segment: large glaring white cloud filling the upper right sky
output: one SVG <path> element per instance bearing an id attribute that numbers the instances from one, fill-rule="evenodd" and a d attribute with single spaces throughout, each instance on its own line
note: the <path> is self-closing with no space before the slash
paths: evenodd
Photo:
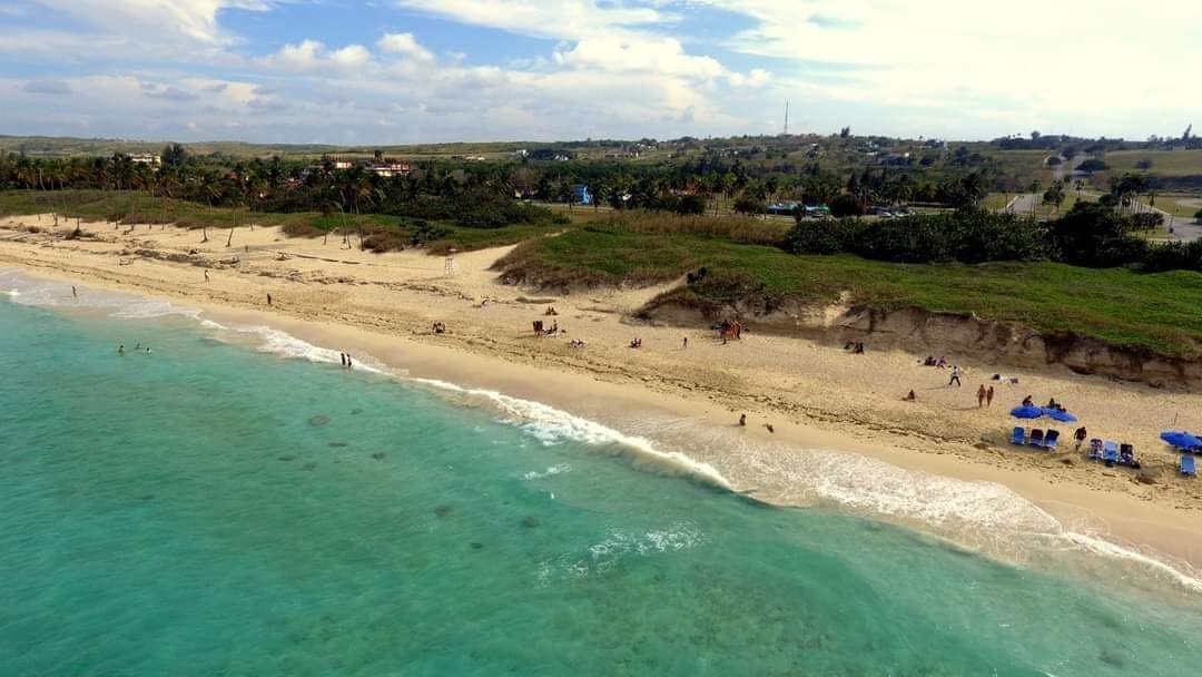
<path id="1" fill-rule="evenodd" d="M 778 75 L 791 87 L 834 100 L 956 107 L 994 129 L 1001 114 L 1083 133 L 1115 126 L 1130 133 L 1120 118 L 1132 112 L 1202 109 L 1202 89 L 1180 87 L 1202 64 L 1198 2 L 1138 11 L 1118 0 L 1088 10 L 1042 0 L 728 0 L 722 7 L 757 22 L 731 48 L 787 59 L 792 65 Z M 823 64 L 838 66 L 840 82 L 823 79 L 831 75 Z"/>

